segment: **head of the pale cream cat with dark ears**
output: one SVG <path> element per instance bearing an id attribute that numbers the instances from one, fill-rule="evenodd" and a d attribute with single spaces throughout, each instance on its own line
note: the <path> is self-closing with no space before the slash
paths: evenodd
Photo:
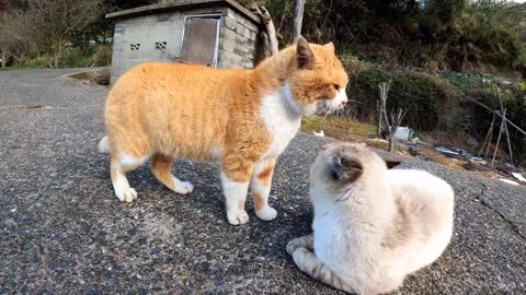
<path id="1" fill-rule="evenodd" d="M 364 145 L 331 143 L 312 164 L 310 184 L 318 190 L 339 192 L 361 181 L 374 181 L 375 177 L 380 180 L 386 170 L 386 162 Z"/>

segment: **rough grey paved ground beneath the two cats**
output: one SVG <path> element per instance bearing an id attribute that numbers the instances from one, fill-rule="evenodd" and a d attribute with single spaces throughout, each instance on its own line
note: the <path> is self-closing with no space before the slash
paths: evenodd
<path id="1" fill-rule="evenodd" d="M 113 194 L 99 154 L 107 88 L 75 70 L 0 72 L 0 294 L 336 294 L 285 252 L 309 233 L 307 172 L 324 140 L 298 135 L 279 160 L 273 222 L 230 226 L 218 168 L 179 161 L 195 191 L 178 196 L 147 166 L 132 204 Z M 455 234 L 400 294 L 526 294 L 526 190 L 405 158 L 456 191 Z"/>

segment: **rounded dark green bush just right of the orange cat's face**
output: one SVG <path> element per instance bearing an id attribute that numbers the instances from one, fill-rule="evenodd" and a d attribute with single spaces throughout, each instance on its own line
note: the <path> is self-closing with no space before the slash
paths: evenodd
<path id="1" fill-rule="evenodd" d="M 403 125 L 413 129 L 431 131 L 437 127 L 448 128 L 455 122 L 458 91 L 438 79 L 407 71 L 368 69 L 351 81 L 348 93 L 357 101 L 358 119 L 376 120 L 379 83 L 392 80 L 387 98 L 387 109 L 408 110 Z"/>

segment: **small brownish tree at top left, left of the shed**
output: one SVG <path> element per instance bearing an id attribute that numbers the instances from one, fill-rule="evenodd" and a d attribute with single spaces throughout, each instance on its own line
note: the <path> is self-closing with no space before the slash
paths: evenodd
<path id="1" fill-rule="evenodd" d="M 28 36 L 37 48 L 53 56 L 49 66 L 57 68 L 66 43 L 103 11 L 102 0 L 30 0 L 25 11 Z"/>

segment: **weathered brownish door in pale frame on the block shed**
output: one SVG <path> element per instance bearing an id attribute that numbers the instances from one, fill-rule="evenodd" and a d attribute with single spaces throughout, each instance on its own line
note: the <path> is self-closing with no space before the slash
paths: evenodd
<path id="1" fill-rule="evenodd" d="M 219 19 L 187 17 L 184 24 L 181 60 L 215 67 L 218 25 Z"/>

